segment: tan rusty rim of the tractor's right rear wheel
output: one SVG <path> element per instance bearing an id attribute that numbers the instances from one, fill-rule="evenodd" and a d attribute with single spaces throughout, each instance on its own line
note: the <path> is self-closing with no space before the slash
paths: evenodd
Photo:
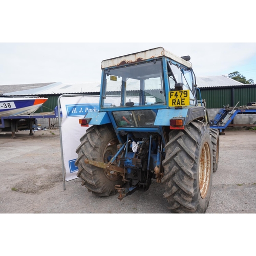
<path id="1" fill-rule="evenodd" d="M 207 195 L 207 191 L 210 183 L 210 147 L 208 143 L 204 143 L 199 165 L 199 190 L 200 195 L 204 199 Z"/>

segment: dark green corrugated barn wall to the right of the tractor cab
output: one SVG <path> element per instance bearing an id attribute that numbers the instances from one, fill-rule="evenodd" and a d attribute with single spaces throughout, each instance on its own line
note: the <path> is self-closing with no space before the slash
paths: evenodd
<path id="1" fill-rule="evenodd" d="M 232 102 L 233 89 L 233 102 Z M 239 106 L 256 101 L 256 87 L 228 88 L 228 89 L 201 89 L 202 99 L 206 100 L 207 109 L 221 109 L 223 105 Z"/>

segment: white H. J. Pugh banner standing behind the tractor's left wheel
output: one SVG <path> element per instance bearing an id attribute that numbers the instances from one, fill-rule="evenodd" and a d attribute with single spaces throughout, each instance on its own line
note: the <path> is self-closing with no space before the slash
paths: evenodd
<path id="1" fill-rule="evenodd" d="M 87 112 L 99 111 L 99 96 L 62 96 L 60 105 L 63 161 L 66 169 L 66 181 L 70 181 L 77 178 L 76 148 L 80 145 L 80 138 L 88 129 L 88 127 L 81 127 L 79 119 L 83 118 Z"/>

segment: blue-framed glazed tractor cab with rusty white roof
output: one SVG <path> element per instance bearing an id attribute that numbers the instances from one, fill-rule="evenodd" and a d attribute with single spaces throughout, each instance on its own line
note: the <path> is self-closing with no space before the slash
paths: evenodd
<path id="1" fill-rule="evenodd" d="M 196 105 L 191 66 L 163 48 L 103 60 L 99 111 Z"/>

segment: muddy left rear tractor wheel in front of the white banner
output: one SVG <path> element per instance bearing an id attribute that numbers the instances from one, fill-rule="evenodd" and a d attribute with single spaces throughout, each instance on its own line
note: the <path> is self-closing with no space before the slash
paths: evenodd
<path id="1" fill-rule="evenodd" d="M 109 158 L 117 153 L 119 144 L 111 125 L 91 126 L 80 139 L 76 153 L 75 165 L 78 167 L 77 176 L 82 179 L 82 185 L 97 196 L 110 196 L 117 193 L 115 185 L 122 185 L 119 173 L 84 163 L 85 159 L 108 163 Z"/>

